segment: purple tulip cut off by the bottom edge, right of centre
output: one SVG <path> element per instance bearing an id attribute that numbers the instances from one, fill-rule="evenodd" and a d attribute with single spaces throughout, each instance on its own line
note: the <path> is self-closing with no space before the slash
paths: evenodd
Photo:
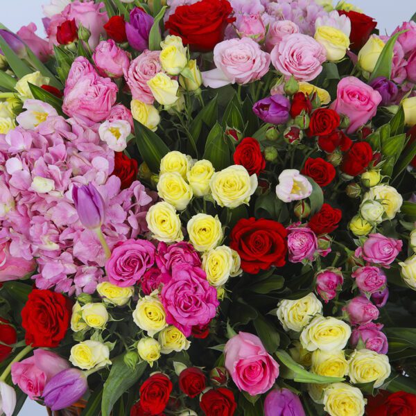
<path id="1" fill-rule="evenodd" d="M 264 416 L 305 416 L 299 397 L 287 388 L 272 390 L 264 401 Z"/>

